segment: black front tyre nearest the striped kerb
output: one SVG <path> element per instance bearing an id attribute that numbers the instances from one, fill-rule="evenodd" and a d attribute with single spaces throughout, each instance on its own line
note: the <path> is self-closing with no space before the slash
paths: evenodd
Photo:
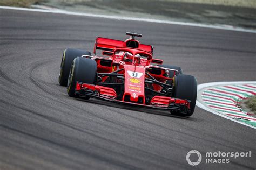
<path id="1" fill-rule="evenodd" d="M 171 111 L 173 115 L 191 116 L 196 107 L 197 101 L 197 80 L 194 76 L 178 74 L 174 77 L 173 96 L 174 98 L 190 100 L 190 112 L 181 114 L 180 112 Z"/>

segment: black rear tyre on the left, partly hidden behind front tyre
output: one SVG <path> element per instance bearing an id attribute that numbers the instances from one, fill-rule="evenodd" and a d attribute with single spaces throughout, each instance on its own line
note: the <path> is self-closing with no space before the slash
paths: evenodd
<path id="1" fill-rule="evenodd" d="M 83 51 L 75 48 L 67 48 L 64 50 L 59 72 L 59 84 L 61 86 L 67 86 L 71 63 L 77 56 L 82 55 L 91 55 L 91 53 L 89 51 Z"/>

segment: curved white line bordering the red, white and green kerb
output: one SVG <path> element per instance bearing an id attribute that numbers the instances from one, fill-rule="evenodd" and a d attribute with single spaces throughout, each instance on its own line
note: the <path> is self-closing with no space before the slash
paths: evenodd
<path id="1" fill-rule="evenodd" d="M 203 90 L 203 89 L 205 89 L 205 88 L 211 88 L 211 87 L 220 86 L 220 85 L 224 85 L 224 86 L 225 86 L 225 85 L 229 85 L 229 84 L 250 84 L 250 83 L 255 84 L 256 81 L 233 81 L 233 82 L 211 82 L 211 83 L 204 83 L 204 84 L 199 84 L 199 85 L 197 86 L 197 91 L 199 92 L 199 91 L 201 91 L 201 90 Z M 198 94 L 199 94 L 199 93 L 198 93 Z M 200 97 L 201 97 L 201 96 L 198 95 L 198 98 L 200 98 Z M 246 124 L 246 123 L 244 123 L 244 122 L 237 121 L 236 119 L 233 119 L 233 118 L 231 118 L 231 117 L 229 117 L 229 116 L 226 116 L 226 115 L 224 115 L 224 114 L 220 114 L 219 112 L 217 112 L 217 111 L 211 109 L 210 107 L 206 107 L 206 105 L 203 104 L 203 101 L 201 102 L 201 99 L 198 100 L 198 98 L 197 98 L 197 103 L 196 103 L 196 105 L 197 105 L 199 108 L 204 109 L 204 110 L 206 110 L 206 111 L 209 111 L 209 112 L 211 112 L 212 114 L 215 114 L 215 115 L 224 117 L 224 118 L 226 118 L 226 119 L 228 119 L 228 120 L 230 120 L 230 121 L 237 122 L 237 123 L 240 123 L 240 124 L 242 124 L 242 125 L 248 126 L 248 127 L 250 127 L 250 128 L 256 129 L 256 127 L 254 127 L 254 126 L 252 126 L 252 125 Z"/>

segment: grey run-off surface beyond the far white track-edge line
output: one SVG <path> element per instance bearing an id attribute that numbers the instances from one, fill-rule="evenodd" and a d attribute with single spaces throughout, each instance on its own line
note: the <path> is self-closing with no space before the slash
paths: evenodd
<path id="1" fill-rule="evenodd" d="M 220 0 L 215 2 L 218 1 Z M 196 0 L 194 0 L 194 2 L 196 2 Z M 225 1 L 222 2 L 225 4 Z M 248 3 L 248 1 L 246 2 Z M 242 8 L 238 6 L 209 5 L 172 1 L 49 0 L 39 2 L 39 5 L 52 6 L 53 8 L 59 8 L 73 12 L 95 13 L 122 17 L 150 18 L 210 25 L 225 25 L 228 27 L 244 27 L 246 29 L 254 30 L 256 29 L 256 11 L 254 8 L 256 4 L 252 5 L 251 8 Z"/>

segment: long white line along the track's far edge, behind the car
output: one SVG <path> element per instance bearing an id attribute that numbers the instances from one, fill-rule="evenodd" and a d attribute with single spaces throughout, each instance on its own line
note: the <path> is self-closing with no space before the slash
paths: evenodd
<path id="1" fill-rule="evenodd" d="M 240 31 L 240 32 L 256 33 L 256 30 L 243 29 L 241 27 L 226 26 L 226 25 L 207 25 L 207 24 L 174 22 L 174 21 L 171 21 L 171 20 L 159 20 L 159 19 L 149 19 L 149 18 L 136 18 L 136 17 L 120 17 L 120 16 L 98 15 L 98 14 L 93 14 L 93 13 L 69 12 L 69 11 L 58 10 L 58 9 L 57 10 L 56 9 L 45 10 L 45 9 L 19 8 L 19 7 L 11 7 L 11 6 L 0 6 L 0 9 L 33 11 L 33 12 L 45 12 L 45 13 L 59 13 L 59 14 L 65 14 L 65 15 L 86 16 L 86 17 L 99 17 L 99 18 L 118 19 L 118 20 L 134 20 L 134 21 L 140 21 L 140 22 L 173 24 L 173 25 L 186 25 L 186 26 L 197 26 L 197 27 L 205 27 L 205 28 L 208 28 L 208 29 L 219 29 L 219 30 L 229 30 L 229 31 Z"/>

